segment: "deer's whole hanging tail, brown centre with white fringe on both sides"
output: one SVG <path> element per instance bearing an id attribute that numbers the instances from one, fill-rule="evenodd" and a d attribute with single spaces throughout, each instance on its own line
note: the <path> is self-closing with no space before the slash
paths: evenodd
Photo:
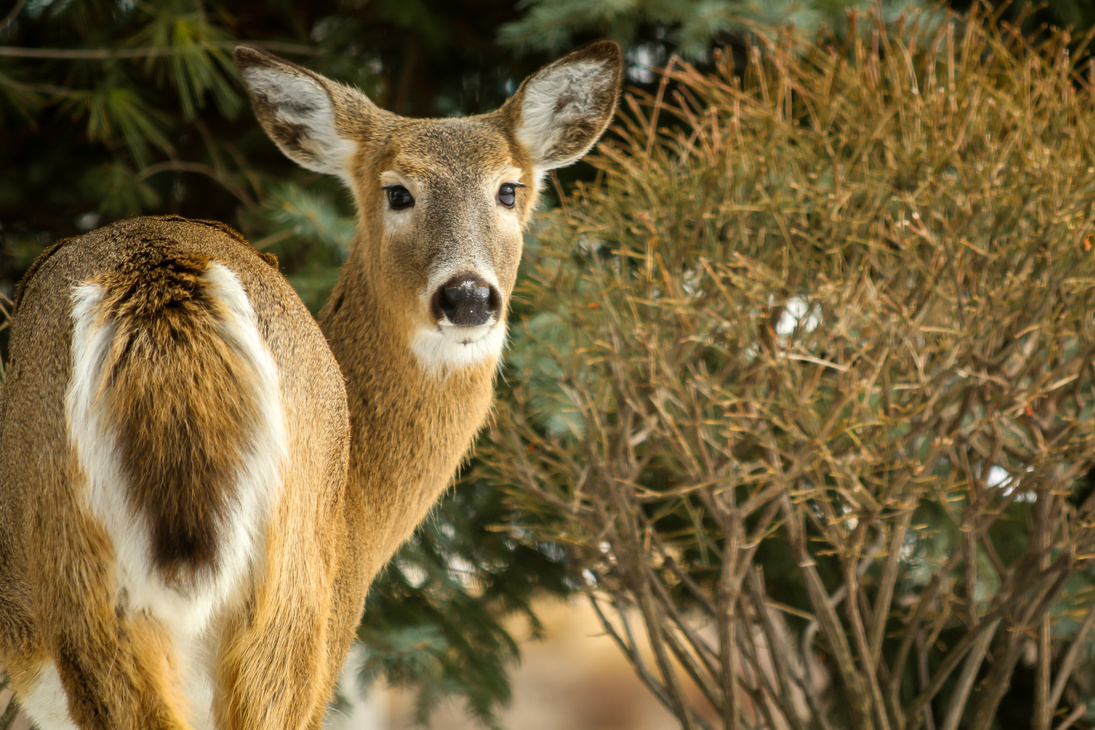
<path id="1" fill-rule="evenodd" d="M 73 304 L 70 426 L 116 548 L 143 543 L 168 584 L 250 553 L 238 543 L 256 531 L 240 521 L 269 484 L 247 485 L 276 480 L 284 436 L 277 370 L 237 275 L 149 246 L 78 286 Z"/>

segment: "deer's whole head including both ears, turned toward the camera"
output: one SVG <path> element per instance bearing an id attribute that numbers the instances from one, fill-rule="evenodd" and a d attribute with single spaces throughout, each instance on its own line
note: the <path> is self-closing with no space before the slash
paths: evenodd
<path id="1" fill-rule="evenodd" d="M 256 116 L 299 164 L 339 176 L 361 219 L 349 265 L 420 367 L 495 363 L 546 171 L 585 154 L 608 126 L 620 50 L 595 44 L 541 69 L 500 109 L 406 119 L 360 92 L 258 51 L 237 63 Z"/>

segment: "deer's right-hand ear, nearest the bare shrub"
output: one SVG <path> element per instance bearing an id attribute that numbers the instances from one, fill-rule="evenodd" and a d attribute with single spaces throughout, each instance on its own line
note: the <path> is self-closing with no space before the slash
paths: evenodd
<path id="1" fill-rule="evenodd" d="M 538 173 L 589 151 L 612 120 L 622 74 L 620 46 L 602 40 L 525 80 L 504 109 Z"/>

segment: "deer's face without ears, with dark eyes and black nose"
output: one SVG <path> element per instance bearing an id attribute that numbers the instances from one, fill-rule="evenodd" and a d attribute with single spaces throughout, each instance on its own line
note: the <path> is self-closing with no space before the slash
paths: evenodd
<path id="1" fill-rule="evenodd" d="M 370 286 L 429 368 L 497 357 L 532 205 L 526 155 L 491 118 L 406 124 L 356 179 L 379 224 Z"/>

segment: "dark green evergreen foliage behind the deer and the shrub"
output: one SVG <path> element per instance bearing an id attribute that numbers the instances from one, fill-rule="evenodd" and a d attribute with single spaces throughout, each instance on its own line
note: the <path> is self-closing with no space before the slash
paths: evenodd
<path id="1" fill-rule="evenodd" d="M 239 43 L 356 84 L 393 111 L 443 116 L 500 103 L 551 56 L 595 38 L 621 40 L 633 88 L 649 90 L 649 67 L 675 51 L 710 67 L 712 48 L 740 53 L 765 25 L 787 23 L 803 36 L 829 28 L 839 37 L 845 11 L 872 4 L 14 0 L 0 8 L 0 294 L 54 241 L 122 217 L 174 212 L 238 227 L 278 255 L 319 309 L 353 237 L 348 196 L 334 181 L 292 169 L 264 137 L 230 62 Z M 881 8 L 896 18 L 921 4 Z M 1030 33 L 1045 22 L 1093 20 L 1080 1 L 1026 18 Z M 563 179 L 589 175 L 579 169 Z M 515 318 L 546 336 L 561 323 L 525 315 L 549 304 L 527 299 Z M 562 372 L 523 346 L 511 349 L 511 368 L 545 385 L 529 390 L 529 407 L 554 432 L 573 429 L 574 409 L 551 387 Z M 535 626 L 534 596 L 580 588 L 568 549 L 494 529 L 522 519 L 498 487 L 473 467 L 370 595 L 366 669 L 416 686 L 422 717 L 437 698 L 458 695 L 493 722 L 508 697 L 506 664 L 517 657 L 500 619 L 525 613 Z"/>

